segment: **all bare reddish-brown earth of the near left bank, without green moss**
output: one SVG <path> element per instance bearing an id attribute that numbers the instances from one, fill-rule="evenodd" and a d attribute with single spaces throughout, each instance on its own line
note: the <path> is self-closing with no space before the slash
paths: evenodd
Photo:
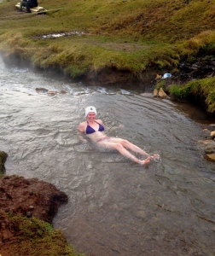
<path id="1" fill-rule="evenodd" d="M 67 195 L 54 185 L 37 178 L 3 176 L 7 154 L 0 151 L 0 253 L 17 255 L 11 245 L 19 244 L 19 224 L 9 215 L 38 218 L 51 224 L 61 204 L 67 203 Z"/>

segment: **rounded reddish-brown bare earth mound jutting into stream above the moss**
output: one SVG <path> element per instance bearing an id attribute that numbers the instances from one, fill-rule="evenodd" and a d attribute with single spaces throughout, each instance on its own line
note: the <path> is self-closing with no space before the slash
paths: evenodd
<path id="1" fill-rule="evenodd" d="M 0 179 L 0 208 L 5 212 L 35 217 L 52 223 L 67 195 L 37 178 L 5 176 Z"/>

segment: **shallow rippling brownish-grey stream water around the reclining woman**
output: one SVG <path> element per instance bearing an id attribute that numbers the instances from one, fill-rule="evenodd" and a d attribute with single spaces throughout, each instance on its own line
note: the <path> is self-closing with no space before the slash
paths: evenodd
<path id="1" fill-rule="evenodd" d="M 214 255 L 214 163 L 198 143 L 200 110 L 152 93 L 87 86 L 0 59 L 0 150 L 7 174 L 38 177 L 68 197 L 54 227 L 93 256 Z M 61 91 L 48 95 L 36 88 Z M 83 144 L 78 124 L 94 105 L 109 136 L 159 162 L 143 167 Z M 124 128 L 119 129 L 119 125 Z"/>

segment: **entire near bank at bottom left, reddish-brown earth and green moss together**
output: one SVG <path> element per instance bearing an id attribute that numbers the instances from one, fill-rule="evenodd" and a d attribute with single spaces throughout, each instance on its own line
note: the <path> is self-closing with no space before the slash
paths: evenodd
<path id="1" fill-rule="evenodd" d="M 0 151 L 3 170 L 7 154 Z M 77 255 L 60 230 L 52 229 L 58 208 L 67 195 L 36 178 L 0 178 L 1 255 Z M 37 254 L 38 255 L 38 254 Z"/>

